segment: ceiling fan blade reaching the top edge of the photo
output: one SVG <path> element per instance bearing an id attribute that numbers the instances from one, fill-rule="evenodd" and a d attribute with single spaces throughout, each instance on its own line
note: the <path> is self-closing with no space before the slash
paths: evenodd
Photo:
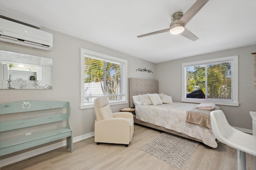
<path id="1" fill-rule="evenodd" d="M 181 24 L 185 26 L 196 15 L 196 13 L 206 4 L 206 2 L 208 2 L 208 0 L 197 0 L 176 24 Z"/>

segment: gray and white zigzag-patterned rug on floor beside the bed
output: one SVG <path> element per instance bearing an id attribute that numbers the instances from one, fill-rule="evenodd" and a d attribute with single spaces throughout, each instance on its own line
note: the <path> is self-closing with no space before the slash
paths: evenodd
<path id="1" fill-rule="evenodd" d="M 164 132 L 139 149 L 181 169 L 198 143 Z"/>

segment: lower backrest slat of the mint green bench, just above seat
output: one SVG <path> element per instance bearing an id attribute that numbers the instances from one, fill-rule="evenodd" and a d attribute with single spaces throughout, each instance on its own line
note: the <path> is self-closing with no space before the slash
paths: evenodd
<path id="1" fill-rule="evenodd" d="M 19 128 L 25 128 L 25 127 L 32 127 L 36 125 L 43 125 L 43 124 L 53 123 L 58 121 L 65 121 L 67 119 L 69 119 L 69 117 L 65 113 L 65 114 L 23 119 L 18 121 L 2 122 L 0 123 L 0 132 L 19 129 Z"/>

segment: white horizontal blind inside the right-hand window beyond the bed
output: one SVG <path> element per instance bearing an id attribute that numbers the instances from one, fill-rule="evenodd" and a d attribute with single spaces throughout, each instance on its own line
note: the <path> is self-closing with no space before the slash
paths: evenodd
<path id="1" fill-rule="evenodd" d="M 226 99 L 232 97 L 233 61 L 186 67 L 186 97 Z"/>

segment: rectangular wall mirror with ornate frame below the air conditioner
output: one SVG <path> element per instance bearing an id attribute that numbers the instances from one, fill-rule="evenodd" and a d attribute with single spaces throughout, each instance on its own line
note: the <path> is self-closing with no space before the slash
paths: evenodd
<path id="1" fill-rule="evenodd" d="M 52 59 L 0 50 L 0 89 L 52 89 Z"/>

